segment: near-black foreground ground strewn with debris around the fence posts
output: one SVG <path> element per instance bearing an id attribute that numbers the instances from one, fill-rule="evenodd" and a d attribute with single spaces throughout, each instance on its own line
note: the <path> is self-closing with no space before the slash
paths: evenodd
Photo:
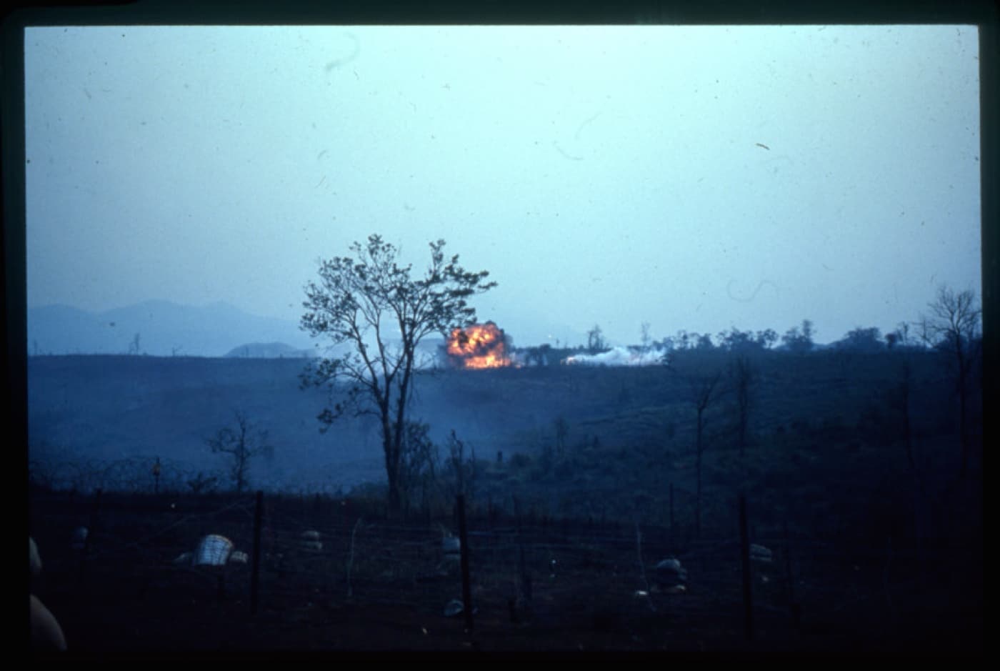
<path id="1" fill-rule="evenodd" d="M 903 548 L 852 554 L 808 539 L 788 542 L 789 562 L 785 548 L 772 543 L 774 561 L 753 565 L 750 641 L 732 538 L 671 544 L 659 528 L 643 528 L 637 539 L 628 525 L 555 520 L 525 520 L 518 534 L 502 517 L 470 520 L 477 530 L 470 537 L 477 610 L 468 633 L 462 616 L 443 612 L 450 599 L 460 598 L 461 583 L 457 567 L 441 569 L 440 523 L 358 523 L 356 515 L 342 514 L 346 502 L 319 499 L 266 506 L 253 614 L 249 565 L 172 563 L 206 531 L 224 531 L 237 548 L 249 550 L 253 506 L 247 498 L 234 505 L 221 498 L 107 495 L 91 517 L 93 497 L 34 493 L 32 514 L 49 523 L 34 527 L 44 570 L 32 589 L 61 622 L 70 654 L 253 659 L 261 653 L 478 650 L 951 657 L 982 650 L 981 576 L 977 597 L 972 572 L 960 566 L 975 555 L 954 548 L 925 553 L 918 566 Z M 80 519 L 97 522 L 86 557 L 66 542 Z M 299 529 L 307 527 L 328 530 L 321 552 L 295 549 Z M 690 574 L 684 594 L 666 594 L 652 579 L 652 564 L 670 547 L 681 550 L 676 554 Z M 524 574 L 532 581 L 530 611 Z M 648 596 L 636 595 L 648 585 Z"/>

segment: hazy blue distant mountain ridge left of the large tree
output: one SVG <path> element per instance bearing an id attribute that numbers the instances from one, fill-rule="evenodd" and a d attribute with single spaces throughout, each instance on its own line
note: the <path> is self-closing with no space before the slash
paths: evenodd
<path id="1" fill-rule="evenodd" d="M 222 357 L 247 343 L 311 350 L 291 320 L 261 317 L 228 303 L 204 306 L 148 300 L 105 312 L 67 305 L 28 308 L 29 354 L 150 354 Z"/>

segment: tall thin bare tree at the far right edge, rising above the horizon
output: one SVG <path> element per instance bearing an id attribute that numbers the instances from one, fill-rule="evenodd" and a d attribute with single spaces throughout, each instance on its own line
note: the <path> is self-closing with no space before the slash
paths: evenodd
<path id="1" fill-rule="evenodd" d="M 959 400 L 959 427 L 962 440 L 961 475 L 968 468 L 971 437 L 968 425 L 968 402 L 973 364 L 978 354 L 979 320 L 982 310 L 972 290 L 955 292 L 945 285 L 938 287 L 937 298 L 927 304 L 929 315 L 921 315 L 918 330 L 929 347 L 947 353 L 955 374 Z"/>

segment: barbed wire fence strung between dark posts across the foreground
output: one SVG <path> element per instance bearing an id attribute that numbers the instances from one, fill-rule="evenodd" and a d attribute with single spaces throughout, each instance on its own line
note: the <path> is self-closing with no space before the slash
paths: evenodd
<path id="1" fill-rule="evenodd" d="M 61 495 L 65 500 L 65 494 Z M 44 497 L 41 497 L 44 498 Z M 59 499 L 59 495 L 51 498 Z M 47 518 L 40 530 L 53 542 L 47 571 L 73 570 L 86 561 L 91 579 L 129 580 L 136 585 L 177 583 L 177 589 L 217 587 L 232 595 L 249 591 L 249 563 L 200 567 L 178 563 L 208 533 L 226 536 L 234 550 L 253 549 L 255 502 L 239 498 L 164 494 L 134 508 L 134 497 L 108 495 L 96 512 L 96 529 L 83 557 L 53 550 L 59 534 L 69 545 L 71 528 L 86 509 Z M 130 503 L 132 502 L 132 503 Z M 132 507 L 130 507 L 130 505 Z M 173 506 L 173 507 L 172 507 Z M 57 508 L 56 506 L 53 506 Z M 455 536 L 452 520 L 405 521 L 368 518 L 353 502 L 310 497 L 265 497 L 260 552 L 264 604 L 354 603 L 398 606 L 441 613 L 461 596 L 458 562 L 445 552 Z M 46 509 L 46 515 L 49 510 Z M 51 524 L 49 524 L 51 523 Z M 677 525 L 680 526 L 680 525 Z M 584 594 L 603 595 L 620 609 L 669 612 L 672 617 L 712 614 L 734 617 L 741 603 L 740 543 L 733 534 L 678 538 L 669 526 L 596 524 L 568 520 L 542 523 L 531 516 L 473 517 L 468 551 L 473 598 L 484 608 L 503 608 L 522 598 L 530 576 L 535 616 L 558 620 L 567 608 L 586 608 Z M 834 539 L 762 527 L 751 541 L 771 550 L 770 562 L 753 564 L 755 608 L 787 615 L 790 601 L 825 603 L 832 613 L 892 608 L 893 599 L 915 584 L 913 566 L 940 561 L 953 547 L 893 547 L 890 575 L 885 546 L 845 546 Z M 660 584 L 658 562 L 674 557 L 687 567 L 684 594 Z M 249 559 L 249 557 L 247 558 Z M 190 587 L 185 587 L 190 582 Z M 872 587 L 874 586 L 874 587 Z M 880 591 L 873 592 L 877 588 Z M 898 608 L 898 606 L 895 606 Z"/>

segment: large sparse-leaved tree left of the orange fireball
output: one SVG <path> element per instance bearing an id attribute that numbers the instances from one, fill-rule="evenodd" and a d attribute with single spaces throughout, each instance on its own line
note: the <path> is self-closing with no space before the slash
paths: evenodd
<path id="1" fill-rule="evenodd" d="M 457 255 L 445 259 L 444 245 L 444 240 L 430 244 L 430 265 L 413 278 L 411 265 L 398 265 L 396 247 L 371 235 L 367 244 L 351 246 L 353 257 L 322 261 L 319 282 L 306 286 L 302 304 L 307 310 L 303 330 L 334 345 L 350 345 L 348 352 L 322 358 L 302 375 L 304 385 L 330 390 L 332 407 L 318 417 L 321 430 L 348 412 L 378 418 L 394 512 L 401 502 L 400 459 L 417 346 L 431 334 L 475 323 L 476 311 L 467 299 L 496 286 L 485 282 L 486 271 L 465 271 Z M 333 403 L 335 394 L 342 400 Z"/>

